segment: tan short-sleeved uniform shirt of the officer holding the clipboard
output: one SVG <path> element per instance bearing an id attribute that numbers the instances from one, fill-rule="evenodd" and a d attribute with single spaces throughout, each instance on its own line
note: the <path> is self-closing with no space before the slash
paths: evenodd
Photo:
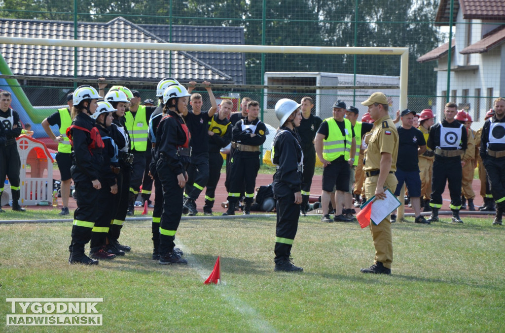
<path id="1" fill-rule="evenodd" d="M 381 153 L 391 154 L 391 169 L 396 171 L 396 159 L 398 157 L 398 131 L 389 115 L 376 120 L 372 136 L 368 143 L 367 158 L 364 170 L 366 172 L 379 170 Z"/>

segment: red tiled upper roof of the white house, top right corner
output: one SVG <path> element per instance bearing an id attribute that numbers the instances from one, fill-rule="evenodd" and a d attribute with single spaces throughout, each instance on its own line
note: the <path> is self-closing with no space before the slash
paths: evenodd
<path id="1" fill-rule="evenodd" d="M 505 2 L 503 0 L 455 0 L 452 21 L 456 23 L 456 16 L 461 8 L 463 18 L 484 19 L 484 20 L 504 20 Z M 449 23 L 450 0 L 440 0 L 435 21 L 438 25 Z"/>

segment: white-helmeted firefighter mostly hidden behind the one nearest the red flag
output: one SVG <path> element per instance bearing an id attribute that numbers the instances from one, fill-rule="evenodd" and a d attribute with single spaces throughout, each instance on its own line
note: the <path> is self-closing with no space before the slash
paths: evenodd
<path id="1" fill-rule="evenodd" d="M 155 204 L 153 208 L 153 221 L 151 222 L 151 232 L 153 233 L 153 260 L 160 260 L 160 252 L 158 251 L 160 247 L 160 221 L 161 214 L 163 213 L 163 186 L 160 181 L 160 177 L 156 172 L 156 163 L 154 163 L 154 157 L 156 155 L 156 131 L 158 129 L 158 124 L 163 118 L 163 108 L 165 103 L 163 103 L 163 93 L 171 85 L 178 85 L 179 82 L 172 78 L 165 78 L 158 83 L 156 87 L 156 97 L 159 98 L 160 102 L 156 110 L 151 114 L 149 119 L 149 134 L 147 136 L 148 140 L 151 142 L 151 162 L 149 163 L 149 175 L 153 178 L 155 183 Z M 174 247 L 174 252 L 178 251 L 182 255 L 182 251 Z"/>

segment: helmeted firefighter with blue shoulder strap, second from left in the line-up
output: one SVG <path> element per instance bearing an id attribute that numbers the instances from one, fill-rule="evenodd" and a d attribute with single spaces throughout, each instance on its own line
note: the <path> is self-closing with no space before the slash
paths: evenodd
<path id="1" fill-rule="evenodd" d="M 98 190 L 98 199 L 95 209 L 98 211 L 98 217 L 91 230 L 90 257 L 93 259 L 114 259 L 116 254 L 108 251 L 107 235 L 111 226 L 112 209 L 114 199 L 118 193 L 117 175 L 120 168 L 118 163 L 118 147 L 111 137 L 112 112 L 116 112 L 111 103 L 100 101 L 95 113 L 91 116 L 96 121 L 96 128 L 100 132 L 104 149 L 102 157 L 104 163 L 100 171 L 100 182 L 102 188 Z"/>

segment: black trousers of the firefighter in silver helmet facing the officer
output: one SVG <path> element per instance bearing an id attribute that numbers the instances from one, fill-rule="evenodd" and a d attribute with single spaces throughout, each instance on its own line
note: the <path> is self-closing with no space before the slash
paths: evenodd
<path id="1" fill-rule="evenodd" d="M 275 229 L 275 263 L 289 259 L 294 237 L 298 230 L 300 205 L 294 203 L 294 193 L 285 183 L 272 184 L 277 209 Z"/>

